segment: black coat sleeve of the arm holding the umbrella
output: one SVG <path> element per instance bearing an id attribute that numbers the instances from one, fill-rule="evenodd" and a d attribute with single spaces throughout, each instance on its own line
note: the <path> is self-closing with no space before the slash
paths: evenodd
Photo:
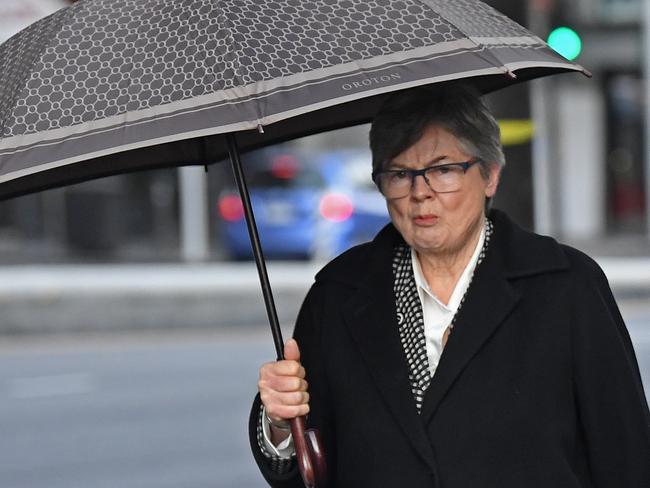
<path id="1" fill-rule="evenodd" d="M 307 428 L 317 428 L 324 444 L 324 451 L 327 456 L 328 471 L 331 471 L 333 464 L 333 452 L 330 446 L 333 445 L 333 429 L 331 428 L 328 412 L 327 381 L 325 376 L 325 360 L 322 351 L 322 295 L 321 287 L 312 286 L 307 294 L 294 329 L 293 337 L 300 348 L 301 363 L 305 368 L 306 380 L 309 385 L 310 413 L 307 417 Z M 284 474 L 279 474 L 272 469 L 268 458 L 264 456 L 257 441 L 257 422 L 261 401 L 259 394 L 255 397 L 249 418 L 249 440 L 255 461 L 264 476 L 264 479 L 274 488 L 303 488 L 304 484 L 298 470 L 297 463 L 293 462 L 293 468 Z"/>

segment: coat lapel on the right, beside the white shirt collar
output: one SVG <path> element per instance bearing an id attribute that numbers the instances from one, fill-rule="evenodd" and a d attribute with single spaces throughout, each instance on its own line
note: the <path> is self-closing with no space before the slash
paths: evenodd
<path id="1" fill-rule="evenodd" d="M 424 396 L 422 420 L 426 425 L 445 394 L 485 342 L 503 323 L 519 301 L 520 294 L 506 279 L 497 249 L 492 242 L 458 312 L 454 331 L 440 357 Z"/>

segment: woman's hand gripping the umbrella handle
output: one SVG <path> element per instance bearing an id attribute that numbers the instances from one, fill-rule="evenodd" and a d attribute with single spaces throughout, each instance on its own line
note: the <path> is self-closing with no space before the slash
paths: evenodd
<path id="1" fill-rule="evenodd" d="M 300 349 L 294 339 L 289 339 L 284 345 L 284 357 L 282 361 L 262 365 L 257 383 L 266 415 L 271 420 L 272 442 L 276 445 L 289 433 L 274 427 L 274 424 L 282 426 L 286 421 L 309 412 L 305 368 L 300 365 Z"/>

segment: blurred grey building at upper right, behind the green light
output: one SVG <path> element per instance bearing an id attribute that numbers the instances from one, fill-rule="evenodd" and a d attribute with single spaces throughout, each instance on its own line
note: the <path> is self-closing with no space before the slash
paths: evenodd
<path id="1" fill-rule="evenodd" d="M 560 76 L 533 89 L 546 137 L 540 142 L 547 144 L 536 154 L 548 163 L 536 181 L 549 203 L 536 207 L 543 230 L 572 239 L 648 236 L 644 1 L 530 3 L 538 34 L 562 26 L 577 33 L 576 61 L 593 73 L 591 80 Z"/>

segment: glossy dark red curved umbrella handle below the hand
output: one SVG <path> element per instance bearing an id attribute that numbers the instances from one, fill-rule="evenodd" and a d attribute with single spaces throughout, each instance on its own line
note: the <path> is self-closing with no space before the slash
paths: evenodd
<path id="1" fill-rule="evenodd" d="M 305 430 L 305 417 L 291 419 L 291 435 L 302 481 L 307 488 L 327 486 L 325 453 L 316 429 Z"/>

